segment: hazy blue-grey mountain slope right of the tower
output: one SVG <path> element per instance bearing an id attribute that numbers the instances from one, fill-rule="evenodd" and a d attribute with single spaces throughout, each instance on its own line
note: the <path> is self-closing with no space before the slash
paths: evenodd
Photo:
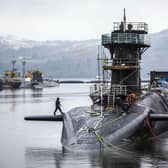
<path id="1" fill-rule="evenodd" d="M 151 34 L 151 47 L 142 59 L 142 74 L 151 70 L 168 71 L 168 29 Z"/>

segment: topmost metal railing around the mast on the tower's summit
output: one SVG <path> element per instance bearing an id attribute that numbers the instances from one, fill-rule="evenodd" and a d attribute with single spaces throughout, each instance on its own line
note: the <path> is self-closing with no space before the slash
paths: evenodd
<path id="1" fill-rule="evenodd" d="M 121 24 L 123 22 L 114 22 L 114 31 L 121 30 Z M 126 22 L 125 30 L 144 31 L 148 32 L 148 24 L 144 22 Z"/>

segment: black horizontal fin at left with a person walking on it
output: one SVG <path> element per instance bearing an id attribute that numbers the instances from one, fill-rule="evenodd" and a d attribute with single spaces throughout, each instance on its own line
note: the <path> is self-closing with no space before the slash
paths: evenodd
<path id="1" fill-rule="evenodd" d="M 62 115 L 40 115 L 40 116 L 27 116 L 24 118 L 24 120 L 30 120 L 30 121 L 63 121 Z"/>

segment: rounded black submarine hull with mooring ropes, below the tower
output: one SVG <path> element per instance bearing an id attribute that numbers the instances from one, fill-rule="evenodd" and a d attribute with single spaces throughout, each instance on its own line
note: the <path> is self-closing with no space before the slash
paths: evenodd
<path id="1" fill-rule="evenodd" d="M 104 112 L 92 117 L 89 107 L 74 108 L 64 114 L 62 145 L 66 150 L 99 150 L 100 146 L 122 146 L 126 140 L 157 137 L 168 129 L 167 121 L 152 121 L 150 114 L 168 114 L 164 96 L 149 92 L 127 113 Z"/>

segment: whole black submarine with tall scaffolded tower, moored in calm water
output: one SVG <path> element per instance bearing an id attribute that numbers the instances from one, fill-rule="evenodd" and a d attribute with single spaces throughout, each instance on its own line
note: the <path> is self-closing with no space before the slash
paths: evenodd
<path id="1" fill-rule="evenodd" d="M 148 24 L 127 22 L 124 9 L 123 20 L 113 26 L 110 34 L 101 36 L 109 56 L 102 52 L 98 57 L 102 79 L 91 89 L 93 105 L 63 114 L 65 150 L 113 149 L 157 138 L 168 129 L 168 89 L 157 77 L 147 90 L 141 86 L 140 62 L 151 46 Z"/>

